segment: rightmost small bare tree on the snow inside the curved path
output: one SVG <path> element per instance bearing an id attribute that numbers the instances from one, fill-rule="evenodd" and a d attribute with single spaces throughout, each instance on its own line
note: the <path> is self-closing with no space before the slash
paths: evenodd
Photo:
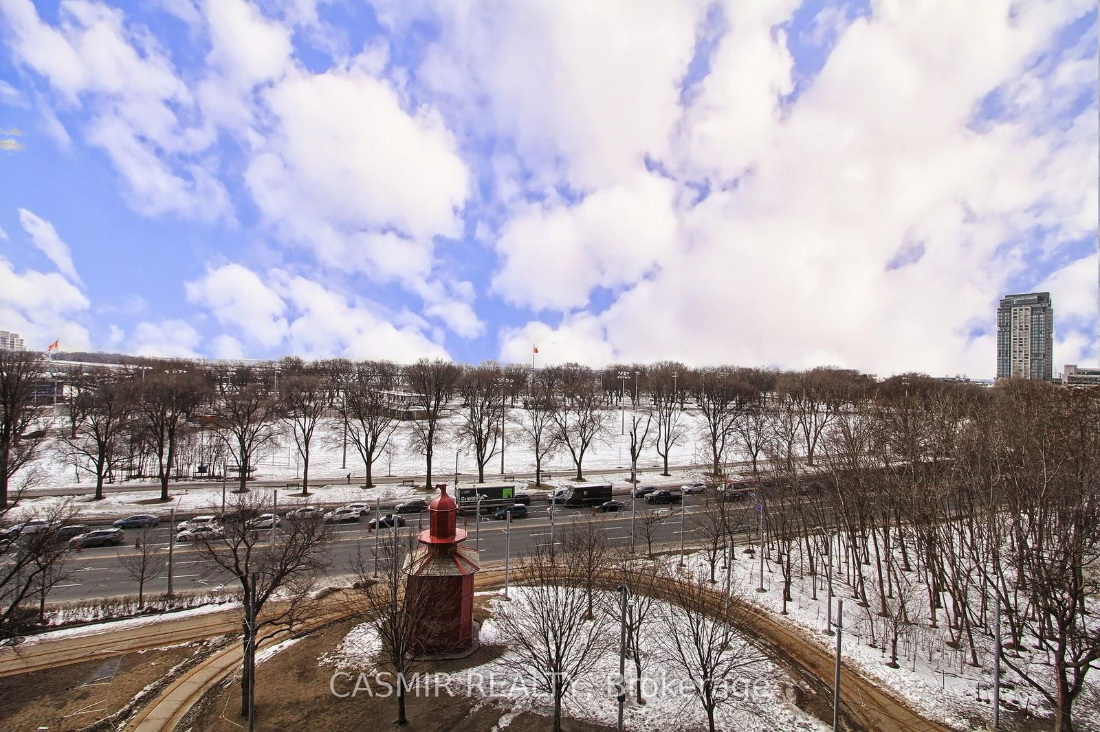
<path id="1" fill-rule="evenodd" d="M 714 732 L 715 713 L 736 707 L 744 698 L 745 674 L 763 655 L 738 632 L 744 606 L 724 603 L 719 596 L 695 581 L 680 581 L 675 605 L 658 613 L 658 644 L 664 658 L 691 681 L 692 695 L 706 713 Z"/>

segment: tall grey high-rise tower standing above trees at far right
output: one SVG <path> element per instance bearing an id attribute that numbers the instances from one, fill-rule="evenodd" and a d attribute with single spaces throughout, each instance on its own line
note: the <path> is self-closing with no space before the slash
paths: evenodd
<path id="1" fill-rule="evenodd" d="M 997 309 L 997 378 L 1049 379 L 1053 347 L 1050 293 L 1005 296 Z"/>

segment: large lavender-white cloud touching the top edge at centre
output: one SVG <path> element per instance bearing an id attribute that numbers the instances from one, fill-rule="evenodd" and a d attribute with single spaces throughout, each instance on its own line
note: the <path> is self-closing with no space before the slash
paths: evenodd
<path id="1" fill-rule="evenodd" d="M 420 76 L 452 99 L 471 129 L 508 140 L 532 186 L 591 190 L 664 157 L 680 118 L 705 3 L 432 5 L 443 27 Z M 384 22 L 409 22 L 417 3 L 389 3 Z"/>

